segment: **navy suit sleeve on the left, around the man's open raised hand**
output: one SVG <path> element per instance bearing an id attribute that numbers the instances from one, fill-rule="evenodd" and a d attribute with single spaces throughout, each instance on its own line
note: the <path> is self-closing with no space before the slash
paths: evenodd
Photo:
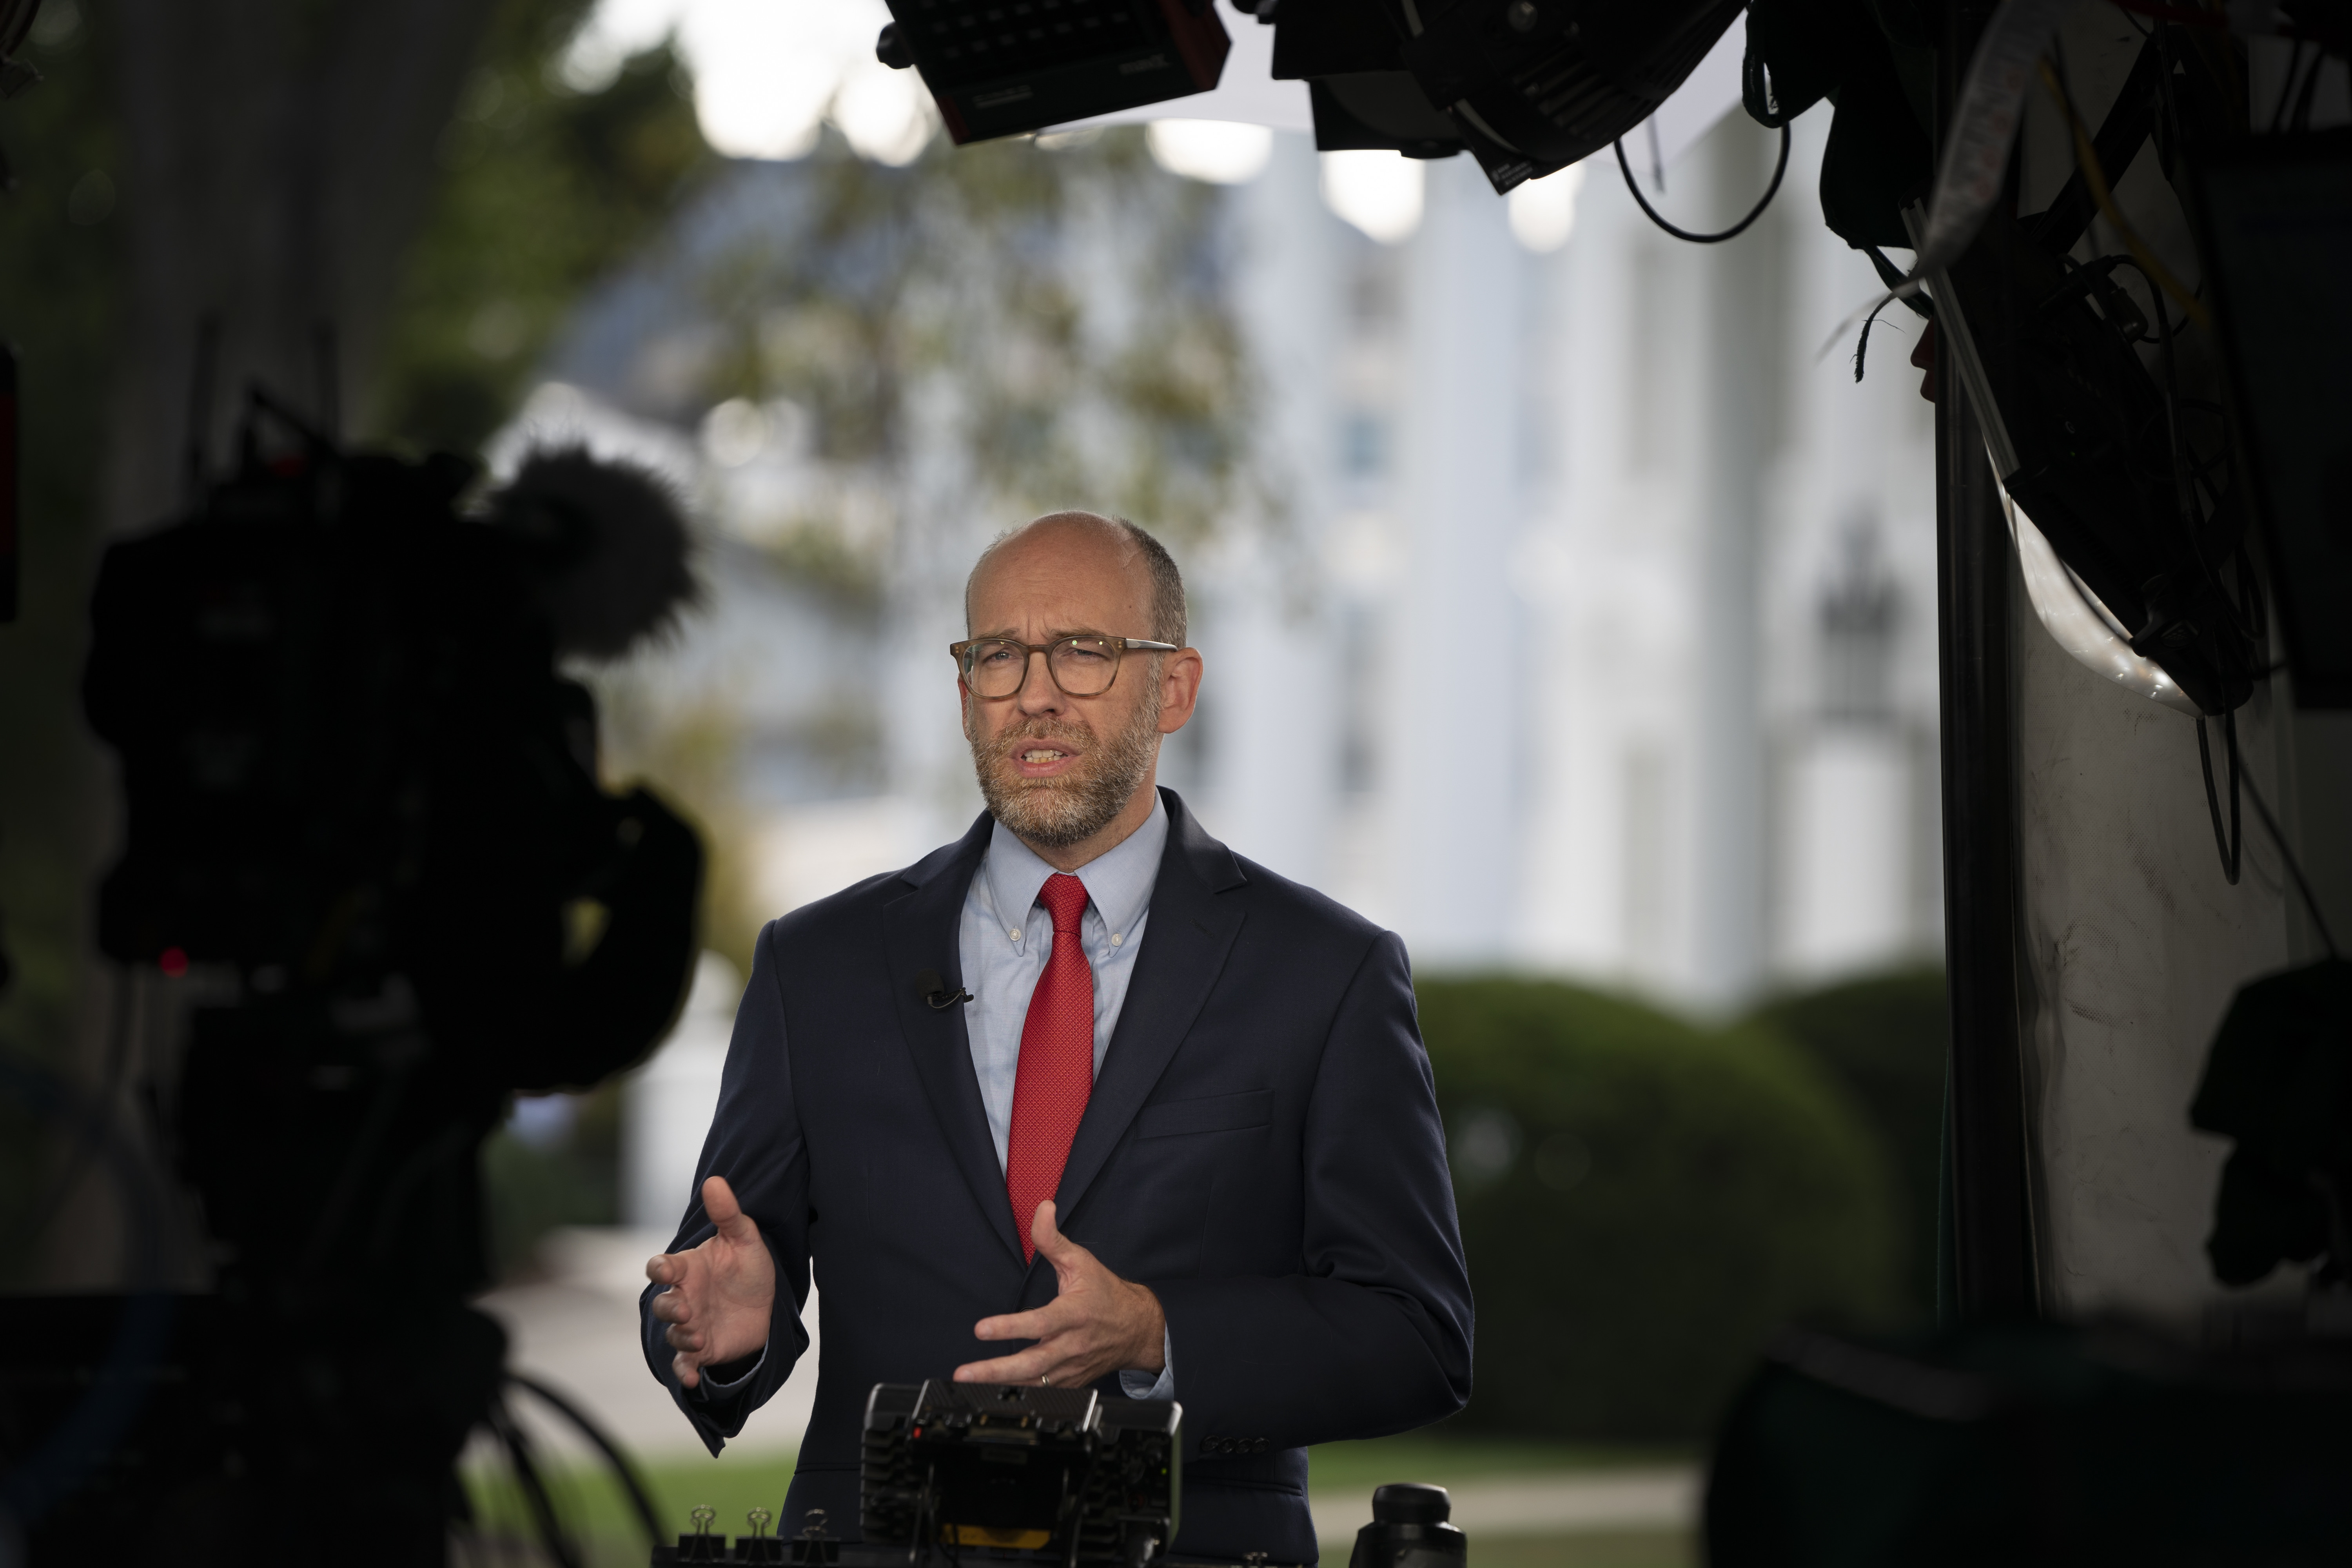
<path id="1" fill-rule="evenodd" d="M 750 985 L 743 987 L 743 1004 L 736 1009 L 734 1039 L 727 1044 L 727 1072 L 720 1079 L 720 1105 L 710 1119 L 710 1135 L 703 1140 L 701 1164 L 694 1168 L 694 1201 L 677 1227 L 670 1251 L 701 1246 L 715 1234 L 715 1225 L 703 1213 L 703 1180 L 724 1175 L 736 1201 L 760 1225 L 760 1237 L 776 1262 L 776 1307 L 769 1319 L 767 1349 L 757 1366 L 724 1394 L 703 1387 L 684 1389 L 670 1371 L 670 1347 L 663 1340 L 663 1324 L 654 1319 L 654 1295 L 659 1286 L 647 1286 L 637 1298 L 637 1328 L 644 1345 L 644 1361 L 654 1378 L 670 1389 L 670 1399 L 694 1422 L 694 1432 L 710 1453 L 727 1446 L 727 1439 L 743 1429 L 783 1380 L 802 1352 L 809 1349 L 809 1331 L 800 1321 L 800 1309 L 809 1300 L 809 1145 L 800 1131 L 800 1107 L 793 1103 L 793 1060 L 783 1039 L 783 992 L 776 978 L 774 957 L 776 926 L 760 931 L 753 954 Z M 708 1371 L 708 1368 L 706 1368 Z"/>

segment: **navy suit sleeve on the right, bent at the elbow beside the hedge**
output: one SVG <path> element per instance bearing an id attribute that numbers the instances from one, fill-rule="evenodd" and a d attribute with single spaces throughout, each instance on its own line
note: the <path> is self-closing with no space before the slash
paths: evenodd
<path id="1" fill-rule="evenodd" d="M 1470 1399 L 1470 1272 L 1395 933 L 1367 952 L 1331 1020 L 1301 1159 L 1298 1274 L 1150 1281 L 1195 1443 L 1385 1436 Z"/>

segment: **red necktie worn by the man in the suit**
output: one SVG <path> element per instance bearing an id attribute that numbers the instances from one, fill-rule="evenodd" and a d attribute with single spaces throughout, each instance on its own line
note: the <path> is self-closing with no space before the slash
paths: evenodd
<path id="1" fill-rule="evenodd" d="M 1014 1128 L 1004 1150 L 1004 1194 L 1014 1201 L 1021 1255 L 1035 1258 L 1030 1220 L 1061 1187 L 1077 1119 L 1094 1093 L 1094 969 L 1077 945 L 1077 917 L 1087 912 L 1087 884 L 1051 875 L 1037 903 L 1054 917 L 1054 952 L 1030 992 L 1030 1016 L 1021 1025 L 1021 1067 L 1014 1074 Z"/>

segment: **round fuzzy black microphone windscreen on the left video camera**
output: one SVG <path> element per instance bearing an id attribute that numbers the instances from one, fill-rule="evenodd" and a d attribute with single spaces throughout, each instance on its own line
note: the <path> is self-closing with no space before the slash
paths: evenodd
<path id="1" fill-rule="evenodd" d="M 524 548 L 557 654 L 619 658 L 701 599 L 694 534 L 652 470 L 543 447 L 489 503 Z"/>

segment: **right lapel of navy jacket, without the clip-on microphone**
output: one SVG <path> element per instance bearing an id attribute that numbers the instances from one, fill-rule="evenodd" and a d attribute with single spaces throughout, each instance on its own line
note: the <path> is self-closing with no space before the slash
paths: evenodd
<path id="1" fill-rule="evenodd" d="M 1087 1187 L 1192 1030 L 1225 969 L 1232 938 L 1242 931 L 1240 900 L 1218 898 L 1244 882 L 1232 851 L 1202 832 L 1174 790 L 1160 795 L 1169 809 L 1169 844 L 1152 884 L 1143 952 L 1136 954 L 1127 1001 L 1120 1004 L 1120 1027 L 1110 1034 L 1103 1072 L 1094 1079 L 1087 1114 L 1080 1117 L 1070 1159 L 1061 1168 L 1061 1192 L 1054 1194 L 1061 1225 L 1077 1213 Z"/>

